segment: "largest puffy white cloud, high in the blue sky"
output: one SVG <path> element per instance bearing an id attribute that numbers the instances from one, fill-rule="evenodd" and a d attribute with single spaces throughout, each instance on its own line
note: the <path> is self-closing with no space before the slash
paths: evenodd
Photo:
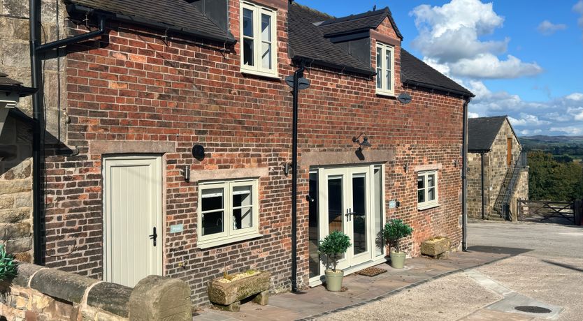
<path id="1" fill-rule="evenodd" d="M 419 31 L 412 46 L 422 52 L 424 61 L 450 77 L 508 79 L 542 72 L 538 64 L 525 63 L 510 54 L 505 60 L 498 58 L 508 50 L 510 38 L 480 40 L 504 22 L 492 3 L 452 0 L 443 6 L 424 4 L 410 15 L 415 16 Z"/>

